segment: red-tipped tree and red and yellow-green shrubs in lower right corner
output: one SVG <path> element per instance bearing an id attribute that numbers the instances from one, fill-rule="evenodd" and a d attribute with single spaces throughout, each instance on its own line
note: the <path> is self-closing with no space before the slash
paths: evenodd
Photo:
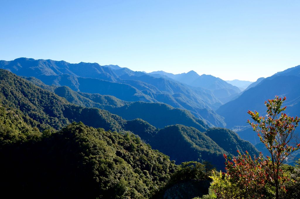
<path id="1" fill-rule="evenodd" d="M 285 165 L 292 152 L 299 149 L 295 128 L 300 119 L 289 117 L 282 111 L 283 99 L 278 96 L 265 102 L 267 115 L 248 111 L 256 123 L 248 123 L 258 133 L 270 156 L 262 153 L 252 159 L 247 151 L 238 156 L 225 157 L 226 173 L 214 173 L 208 198 L 299 198 L 299 163 Z"/>

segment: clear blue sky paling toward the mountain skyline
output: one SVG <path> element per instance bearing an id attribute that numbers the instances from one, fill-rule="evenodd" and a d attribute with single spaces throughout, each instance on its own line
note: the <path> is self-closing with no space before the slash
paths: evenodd
<path id="1" fill-rule="evenodd" d="M 300 64 L 300 1 L 0 0 L 0 59 L 255 81 Z"/>

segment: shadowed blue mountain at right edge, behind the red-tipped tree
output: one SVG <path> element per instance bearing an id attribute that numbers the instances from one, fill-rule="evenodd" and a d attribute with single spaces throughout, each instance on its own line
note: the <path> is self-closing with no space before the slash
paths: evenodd
<path id="1" fill-rule="evenodd" d="M 289 68 L 263 79 L 254 87 L 245 90 L 237 99 L 218 108 L 217 113 L 225 118 L 226 127 L 239 131 L 238 134 L 242 139 L 249 140 L 254 144 L 258 143 L 257 134 L 246 123 L 247 119 L 250 119 L 247 111 L 256 110 L 260 115 L 265 115 L 264 102 L 267 99 L 273 99 L 275 95 L 286 96 L 286 101 L 283 104 L 287 106 L 286 114 L 293 117 L 299 116 L 299 68 L 299 66 Z"/>

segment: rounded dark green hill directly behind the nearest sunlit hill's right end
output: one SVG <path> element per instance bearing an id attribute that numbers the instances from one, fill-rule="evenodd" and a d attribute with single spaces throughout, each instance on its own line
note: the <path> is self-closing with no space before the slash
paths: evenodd
<path id="1" fill-rule="evenodd" d="M 160 130 L 155 138 L 155 142 L 151 142 L 153 148 L 159 146 L 159 150 L 169 154 L 176 163 L 205 159 L 222 168 L 223 154 L 227 153 L 204 133 L 183 125 L 168 126 Z M 180 152 L 182 149 L 186 149 L 185 153 Z"/>

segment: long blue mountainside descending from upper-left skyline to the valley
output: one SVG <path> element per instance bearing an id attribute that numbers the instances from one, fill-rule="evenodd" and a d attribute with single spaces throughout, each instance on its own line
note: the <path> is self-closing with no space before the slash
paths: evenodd
<path id="1" fill-rule="evenodd" d="M 195 117 L 208 120 L 214 125 L 225 125 L 223 118 L 213 111 L 222 102 L 211 90 L 154 78 L 117 65 L 100 66 L 84 62 L 70 64 L 64 61 L 19 58 L 0 61 L 0 68 L 21 76 L 34 76 L 46 85 L 68 86 L 74 91 L 112 95 L 128 102 L 163 102 L 174 108 L 187 109 Z M 228 94 L 227 91 L 225 93 Z"/>

